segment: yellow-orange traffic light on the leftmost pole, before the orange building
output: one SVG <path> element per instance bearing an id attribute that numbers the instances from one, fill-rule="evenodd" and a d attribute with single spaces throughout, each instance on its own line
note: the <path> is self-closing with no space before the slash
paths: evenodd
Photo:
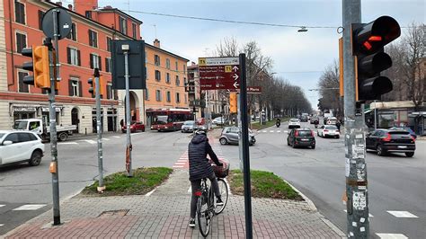
<path id="1" fill-rule="evenodd" d="M 50 89 L 49 49 L 46 46 L 36 46 L 22 49 L 22 56 L 32 58 L 24 62 L 22 68 L 32 71 L 33 75 L 23 77 L 24 84 L 32 84 L 37 88 Z"/>

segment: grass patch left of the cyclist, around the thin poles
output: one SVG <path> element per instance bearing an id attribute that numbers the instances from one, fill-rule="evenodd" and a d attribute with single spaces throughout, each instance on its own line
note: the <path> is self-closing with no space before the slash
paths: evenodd
<path id="1" fill-rule="evenodd" d="M 108 197 L 144 195 L 154 190 L 173 173 L 173 169 L 164 167 L 138 168 L 133 171 L 133 177 L 128 177 L 126 172 L 112 173 L 103 179 L 106 190 L 98 192 L 99 181 L 87 186 L 80 193 L 85 197 Z"/>

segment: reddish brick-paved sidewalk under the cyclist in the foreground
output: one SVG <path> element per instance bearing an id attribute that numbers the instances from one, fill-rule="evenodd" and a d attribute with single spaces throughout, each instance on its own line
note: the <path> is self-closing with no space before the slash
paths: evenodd
<path id="1" fill-rule="evenodd" d="M 177 170 L 145 196 L 76 196 L 61 204 L 63 225 L 51 226 L 49 210 L 5 238 L 202 238 L 197 226 L 188 226 L 189 188 L 188 172 Z M 254 238 L 342 237 L 304 201 L 253 199 L 252 205 Z M 244 197 L 230 195 L 209 238 L 244 238 L 244 226 Z"/>

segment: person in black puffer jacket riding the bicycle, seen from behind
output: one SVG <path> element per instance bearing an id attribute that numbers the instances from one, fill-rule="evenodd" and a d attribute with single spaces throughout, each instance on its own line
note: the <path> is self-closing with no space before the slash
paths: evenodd
<path id="1" fill-rule="evenodd" d="M 190 181 L 191 181 L 191 227 L 195 226 L 195 213 L 197 210 L 197 197 L 195 196 L 195 191 L 200 190 L 201 179 L 209 178 L 211 181 L 212 190 L 215 192 L 217 198 L 217 206 L 223 205 L 222 199 L 220 197 L 219 186 L 217 184 L 217 178 L 213 172 L 211 164 L 209 164 L 209 159 L 207 155 L 213 160 L 217 166 L 223 166 L 217 158 L 215 152 L 209 144 L 209 138 L 206 136 L 204 130 L 197 130 L 195 136 L 192 138 L 190 145 L 188 146 L 188 157 L 190 161 Z"/>

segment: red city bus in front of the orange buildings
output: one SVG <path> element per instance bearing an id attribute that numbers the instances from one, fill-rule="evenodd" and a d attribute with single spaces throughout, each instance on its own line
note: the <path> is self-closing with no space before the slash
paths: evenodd
<path id="1" fill-rule="evenodd" d="M 146 117 L 151 120 L 152 130 L 176 131 L 181 130 L 184 121 L 192 119 L 192 113 L 187 109 L 146 110 Z"/>

